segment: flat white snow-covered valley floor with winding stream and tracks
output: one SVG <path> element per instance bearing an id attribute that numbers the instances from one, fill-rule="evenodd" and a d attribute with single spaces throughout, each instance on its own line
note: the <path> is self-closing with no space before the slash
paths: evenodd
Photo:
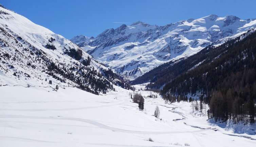
<path id="1" fill-rule="evenodd" d="M 140 88 L 137 85 L 136 88 Z M 0 146 L 252 147 L 255 126 L 226 127 L 193 113 L 191 103 L 145 98 L 144 111 L 127 91 L 103 96 L 65 87 L 0 87 Z M 147 95 L 156 94 L 140 91 Z M 160 119 L 152 116 L 156 106 Z M 217 128 L 217 131 L 204 128 Z M 203 128 L 203 129 L 201 129 Z M 253 130 L 254 129 L 254 130 Z M 247 133 L 241 133 L 241 132 Z M 240 134 L 235 133 L 240 132 Z M 248 133 L 249 132 L 249 133 Z M 151 138 L 154 142 L 148 141 Z"/>

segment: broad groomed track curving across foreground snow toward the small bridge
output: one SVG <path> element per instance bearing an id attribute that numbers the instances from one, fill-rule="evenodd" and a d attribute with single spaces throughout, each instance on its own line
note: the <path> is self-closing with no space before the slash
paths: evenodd
<path id="1" fill-rule="evenodd" d="M 85 122 L 89 123 L 92 125 L 95 125 L 99 128 L 104 128 L 112 131 L 118 131 L 118 132 L 125 132 L 125 133 L 135 133 L 135 134 L 175 134 L 175 133 L 193 133 L 193 132 L 202 132 L 206 131 L 204 129 L 201 130 L 196 130 L 196 131 L 133 131 L 133 130 L 124 130 L 124 129 L 118 129 L 118 128 L 113 128 L 109 127 L 107 125 L 98 123 L 93 120 L 88 120 L 88 119 L 81 119 L 81 118 L 55 118 L 55 117 L 36 117 L 36 116 L 20 116 L 20 115 L 0 115 L 0 118 L 29 118 L 29 119 L 52 119 L 52 120 L 73 120 L 73 121 L 80 121 L 80 122 Z"/>

